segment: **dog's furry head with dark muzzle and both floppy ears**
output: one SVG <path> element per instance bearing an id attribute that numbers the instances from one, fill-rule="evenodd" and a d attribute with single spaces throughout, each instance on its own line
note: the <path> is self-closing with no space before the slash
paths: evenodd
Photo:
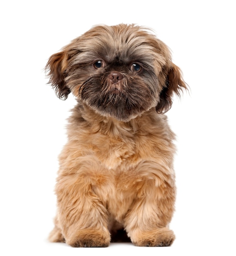
<path id="1" fill-rule="evenodd" d="M 135 25 L 96 26 L 53 54 L 46 69 L 60 99 L 75 97 L 103 116 L 129 121 L 171 108 L 186 84 L 168 47 Z"/>

